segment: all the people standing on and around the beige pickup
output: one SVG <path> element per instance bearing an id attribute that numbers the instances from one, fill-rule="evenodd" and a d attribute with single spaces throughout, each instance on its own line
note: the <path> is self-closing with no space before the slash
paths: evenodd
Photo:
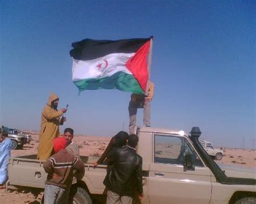
<path id="1" fill-rule="evenodd" d="M 133 202 L 135 196 L 143 198 L 142 157 L 136 153 L 138 136 L 134 135 L 138 108 L 144 108 L 143 122 L 150 124 L 150 102 L 153 97 L 154 85 L 149 82 L 147 95 L 132 94 L 129 103 L 129 133 L 120 131 L 113 136 L 104 153 L 93 163 L 93 166 L 107 164 L 103 184 L 107 189 L 107 204 Z M 41 116 L 39 146 L 37 159 L 44 161 L 43 167 L 48 177 L 45 181 L 44 202 L 68 203 L 71 185 L 84 176 L 84 163 L 79 157 L 79 148 L 72 142 L 73 129 L 66 128 L 63 136 L 59 136 L 59 125 L 66 118 L 63 114 L 67 108 L 58 108 L 59 97 L 51 94 Z M 8 133 L 0 135 L 0 188 L 5 187 L 7 166 L 10 158 L 11 140 Z"/>

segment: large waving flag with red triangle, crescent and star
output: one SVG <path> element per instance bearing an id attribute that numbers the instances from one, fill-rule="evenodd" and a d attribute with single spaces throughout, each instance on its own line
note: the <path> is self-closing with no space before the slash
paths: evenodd
<path id="1" fill-rule="evenodd" d="M 72 80 L 82 90 L 119 89 L 146 94 L 152 37 L 123 40 L 84 39 L 72 43 Z"/>

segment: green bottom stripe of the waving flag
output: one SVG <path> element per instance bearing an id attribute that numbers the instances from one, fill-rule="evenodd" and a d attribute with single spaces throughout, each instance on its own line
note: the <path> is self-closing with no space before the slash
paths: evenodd
<path id="1" fill-rule="evenodd" d="M 144 94 L 138 81 L 133 75 L 124 72 L 117 72 L 106 78 L 84 79 L 74 81 L 74 83 L 78 87 L 79 92 L 82 92 L 83 90 L 118 89 L 124 92 Z"/>

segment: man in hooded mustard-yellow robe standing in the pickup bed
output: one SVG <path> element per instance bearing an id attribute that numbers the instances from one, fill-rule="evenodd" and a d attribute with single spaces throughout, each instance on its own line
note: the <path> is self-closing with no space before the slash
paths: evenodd
<path id="1" fill-rule="evenodd" d="M 60 118 L 60 116 L 67 110 L 66 108 L 58 110 L 58 103 L 59 97 L 52 93 L 43 109 L 37 159 L 46 160 L 54 153 L 53 139 L 59 136 L 59 125 L 63 125 L 66 121 L 65 117 Z"/>

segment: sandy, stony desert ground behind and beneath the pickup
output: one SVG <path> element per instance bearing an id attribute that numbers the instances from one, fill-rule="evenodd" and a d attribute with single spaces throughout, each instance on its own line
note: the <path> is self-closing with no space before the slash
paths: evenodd
<path id="1" fill-rule="evenodd" d="M 22 150 L 12 150 L 11 156 L 37 154 L 38 132 L 28 130 L 24 132 L 28 132 L 32 136 L 32 141 L 30 144 L 25 144 Z M 73 142 L 78 145 L 80 155 L 99 157 L 107 144 L 109 144 L 110 139 L 111 137 L 77 135 L 74 137 Z M 216 161 L 217 163 L 256 168 L 255 150 L 222 148 L 225 151 L 225 156 L 222 160 Z M 37 199 L 38 193 L 38 191 L 31 188 L 23 188 L 9 193 L 6 193 L 4 189 L 0 189 L 0 203 L 39 203 Z"/>

